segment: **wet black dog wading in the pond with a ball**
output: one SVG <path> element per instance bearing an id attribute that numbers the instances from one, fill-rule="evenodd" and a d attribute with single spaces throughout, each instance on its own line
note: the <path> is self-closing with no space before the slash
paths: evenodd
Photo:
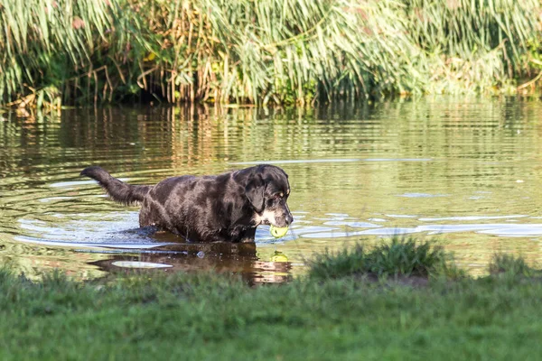
<path id="1" fill-rule="evenodd" d="M 273 165 L 257 165 L 217 176 L 185 175 L 154 186 L 117 180 L 100 167 L 81 171 L 117 202 L 141 202 L 139 226 L 154 226 L 188 242 L 254 242 L 256 227 L 287 227 L 288 176 Z"/>

